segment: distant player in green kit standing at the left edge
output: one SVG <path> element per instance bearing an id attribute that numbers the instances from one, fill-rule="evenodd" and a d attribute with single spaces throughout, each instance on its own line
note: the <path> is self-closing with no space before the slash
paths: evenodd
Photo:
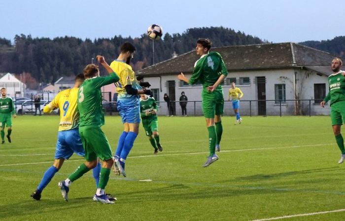
<path id="1" fill-rule="evenodd" d="M 12 98 L 7 97 L 6 88 L 1 88 L 1 98 L 0 98 L 0 133 L 1 133 L 1 143 L 5 143 L 5 126 L 7 126 L 7 139 L 8 142 L 11 142 L 11 133 L 12 133 L 12 117 L 17 117 L 16 109 Z"/>

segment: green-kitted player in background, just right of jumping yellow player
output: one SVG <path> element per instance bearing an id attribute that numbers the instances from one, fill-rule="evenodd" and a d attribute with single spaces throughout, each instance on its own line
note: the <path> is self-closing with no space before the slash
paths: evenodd
<path id="1" fill-rule="evenodd" d="M 148 97 L 146 94 L 140 95 L 140 115 L 142 126 L 144 127 L 146 136 L 149 138 L 151 145 L 155 149 L 154 154 L 163 151 L 162 145 L 159 142 L 158 134 L 158 107 L 153 97 Z"/>

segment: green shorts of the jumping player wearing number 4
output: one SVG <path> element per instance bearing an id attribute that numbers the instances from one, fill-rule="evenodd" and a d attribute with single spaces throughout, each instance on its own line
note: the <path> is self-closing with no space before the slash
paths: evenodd
<path id="1" fill-rule="evenodd" d="M 203 112 L 206 118 L 214 118 L 214 115 L 222 115 L 224 113 L 224 97 L 223 88 L 208 92 L 203 89 Z"/>

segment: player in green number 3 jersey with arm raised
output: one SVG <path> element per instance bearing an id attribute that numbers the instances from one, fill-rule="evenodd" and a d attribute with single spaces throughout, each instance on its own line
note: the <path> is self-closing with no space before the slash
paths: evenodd
<path id="1" fill-rule="evenodd" d="M 87 65 L 83 71 L 85 81 L 79 87 L 77 107 L 80 114 L 79 135 L 83 142 L 86 161 L 78 166 L 66 180 L 59 182 L 61 193 L 66 201 L 68 200 L 69 185 L 84 173 L 96 167 L 97 158 L 99 158 L 103 161 L 103 164 L 100 181 L 93 199 L 102 203 L 114 203 L 104 193 L 114 160 L 112 159 L 109 141 L 101 129 L 101 126 L 104 125 L 101 87 L 118 82 L 119 76 L 105 62 L 103 56 L 98 55 L 97 60 L 104 66 L 109 75 L 100 77 L 99 68 L 95 64 Z"/>

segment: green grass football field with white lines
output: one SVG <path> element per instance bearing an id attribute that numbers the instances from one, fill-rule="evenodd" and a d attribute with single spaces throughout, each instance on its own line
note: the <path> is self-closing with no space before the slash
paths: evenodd
<path id="1" fill-rule="evenodd" d="M 203 117 L 159 117 L 164 151 L 140 133 L 127 160 L 127 178 L 110 175 L 113 205 L 93 202 L 92 172 L 75 181 L 69 202 L 57 183 L 83 162 L 72 156 L 42 193 L 30 194 L 54 159 L 58 116 L 19 116 L 12 143 L 0 145 L 1 220 L 234 220 L 247 221 L 345 208 L 344 165 L 338 165 L 328 116 L 223 117 L 219 160 L 207 168 Z M 122 125 L 107 116 L 112 150 Z M 6 140 L 7 141 L 7 140 Z M 143 180 L 152 180 L 145 182 Z M 286 220 L 343 220 L 345 212 Z"/>

